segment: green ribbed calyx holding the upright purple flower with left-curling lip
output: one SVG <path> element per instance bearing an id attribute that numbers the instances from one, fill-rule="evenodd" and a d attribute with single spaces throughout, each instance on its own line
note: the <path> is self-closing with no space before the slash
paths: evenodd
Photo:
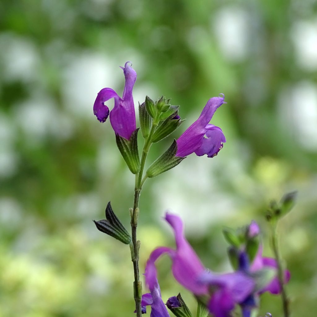
<path id="1" fill-rule="evenodd" d="M 119 151 L 126 161 L 130 171 L 133 174 L 136 174 L 140 170 L 140 157 L 138 150 L 138 132 L 139 128 L 133 131 L 130 140 L 127 140 L 121 137 L 119 134 L 116 134 L 116 142 L 119 148 Z"/>

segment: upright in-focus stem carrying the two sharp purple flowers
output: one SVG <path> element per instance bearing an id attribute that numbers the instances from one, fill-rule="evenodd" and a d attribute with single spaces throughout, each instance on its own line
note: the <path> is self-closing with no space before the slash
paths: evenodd
<path id="1" fill-rule="evenodd" d="M 137 241 L 137 226 L 138 226 L 138 217 L 136 217 L 136 209 L 139 207 L 139 197 L 140 192 L 142 190 L 142 185 L 146 178 L 142 180 L 145 161 L 147 157 L 147 153 L 149 152 L 150 146 L 152 144 L 151 137 L 155 131 L 157 124 L 153 123 L 151 131 L 148 137 L 145 140 L 142 158 L 140 163 L 140 171 L 135 175 L 135 188 L 134 188 L 134 202 L 133 202 L 133 213 L 131 217 L 131 230 L 132 230 L 132 244 L 133 244 L 133 252 L 131 252 L 131 259 L 133 262 L 133 271 L 134 271 L 134 301 L 136 307 L 137 317 L 142 316 L 142 308 L 141 308 L 141 298 L 142 298 L 142 283 L 140 282 L 140 273 L 139 273 L 139 248 L 140 242 Z"/>

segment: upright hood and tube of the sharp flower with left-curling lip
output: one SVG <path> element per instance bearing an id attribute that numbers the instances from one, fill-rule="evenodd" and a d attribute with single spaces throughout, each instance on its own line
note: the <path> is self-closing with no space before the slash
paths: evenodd
<path id="1" fill-rule="evenodd" d="M 114 101 L 114 107 L 110 112 L 110 123 L 116 134 L 128 140 L 136 129 L 132 89 L 137 74 L 129 65 L 129 62 L 126 62 L 123 72 L 126 79 L 123 96 L 122 99 L 115 99 Z"/>

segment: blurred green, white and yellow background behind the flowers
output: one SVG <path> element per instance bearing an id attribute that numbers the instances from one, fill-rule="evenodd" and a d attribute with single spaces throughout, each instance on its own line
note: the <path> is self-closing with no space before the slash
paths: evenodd
<path id="1" fill-rule="evenodd" d="M 138 73 L 136 105 L 163 94 L 187 118 L 149 161 L 210 97 L 227 101 L 212 119 L 227 138 L 219 155 L 193 154 L 145 183 L 141 272 L 153 248 L 174 247 L 167 209 L 214 271 L 230 271 L 223 226 L 258 221 L 271 256 L 265 210 L 298 190 L 281 249 L 293 316 L 314 315 L 316 0 L 3 0 L 0 31 L 1 317 L 133 316 L 130 250 L 92 222 L 111 200 L 129 225 L 134 176 L 92 109 L 101 88 L 122 93 L 126 61 Z M 181 292 L 195 313 L 170 260 L 158 267 L 163 300 Z M 281 316 L 279 297 L 262 296 L 266 312 Z"/>

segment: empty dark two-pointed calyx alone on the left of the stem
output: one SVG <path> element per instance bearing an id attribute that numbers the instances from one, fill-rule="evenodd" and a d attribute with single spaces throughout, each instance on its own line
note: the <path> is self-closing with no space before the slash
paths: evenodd
<path id="1" fill-rule="evenodd" d="M 99 221 L 94 220 L 94 223 L 99 231 L 104 232 L 125 244 L 129 244 L 132 240 L 131 236 L 126 231 L 126 228 L 113 212 L 110 201 L 106 208 L 106 219 Z"/>

